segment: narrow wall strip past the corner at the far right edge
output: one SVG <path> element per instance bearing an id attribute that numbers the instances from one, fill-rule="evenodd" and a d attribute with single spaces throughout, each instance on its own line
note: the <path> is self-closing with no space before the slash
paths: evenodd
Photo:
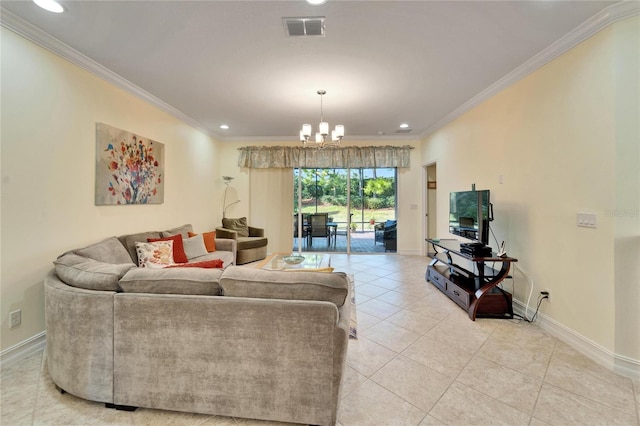
<path id="1" fill-rule="evenodd" d="M 640 360 L 640 18 L 613 29 L 616 353 Z M 634 336 L 635 338 L 629 338 Z"/>

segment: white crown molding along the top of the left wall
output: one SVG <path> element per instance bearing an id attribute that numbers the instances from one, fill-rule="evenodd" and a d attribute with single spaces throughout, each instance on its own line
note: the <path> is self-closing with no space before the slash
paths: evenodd
<path id="1" fill-rule="evenodd" d="M 183 121 L 195 129 L 206 133 L 207 135 L 219 139 L 220 135 L 217 135 L 207 129 L 198 121 L 189 117 L 182 111 L 172 107 L 168 103 L 164 102 L 162 99 L 159 99 L 153 96 L 151 93 L 146 90 L 141 89 L 136 86 L 129 80 L 121 77 L 110 69 L 106 68 L 103 65 L 100 65 L 98 62 L 89 58 L 88 56 L 83 55 L 73 47 L 69 46 L 51 36 L 50 34 L 42 31 L 40 28 L 30 24 L 19 16 L 15 15 L 12 12 L 9 12 L 4 7 L 0 6 L 0 26 L 13 31 L 14 33 L 26 38 L 27 40 L 41 46 L 52 53 L 66 59 L 74 65 L 79 66 L 80 68 L 89 71 L 90 73 L 100 77 L 101 79 L 126 90 L 132 95 L 142 99 L 145 102 L 150 103 L 156 108 L 174 116 L 178 120 Z"/>

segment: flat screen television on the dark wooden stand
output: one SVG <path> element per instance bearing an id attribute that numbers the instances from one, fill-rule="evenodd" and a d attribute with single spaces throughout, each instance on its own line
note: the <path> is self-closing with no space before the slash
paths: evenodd
<path id="1" fill-rule="evenodd" d="M 493 208 L 489 190 L 449 194 L 449 232 L 462 238 L 489 244 L 489 222 Z"/>

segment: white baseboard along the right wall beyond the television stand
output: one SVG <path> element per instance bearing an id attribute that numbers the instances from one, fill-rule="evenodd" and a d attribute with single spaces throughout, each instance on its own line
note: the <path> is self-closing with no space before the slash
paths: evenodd
<path id="1" fill-rule="evenodd" d="M 525 305 L 519 300 L 513 300 L 513 310 L 518 315 L 525 316 Z M 527 318 L 533 317 L 535 310 L 529 308 Z M 576 333 L 548 316 L 538 312 L 536 323 L 547 333 L 563 341 L 581 354 L 598 364 L 631 379 L 640 379 L 640 360 L 617 355 L 599 344 Z"/>

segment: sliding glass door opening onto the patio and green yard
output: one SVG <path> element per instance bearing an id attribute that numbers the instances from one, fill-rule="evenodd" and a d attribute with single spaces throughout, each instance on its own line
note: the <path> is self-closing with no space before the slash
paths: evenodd
<path id="1" fill-rule="evenodd" d="M 396 177 L 395 168 L 295 169 L 293 250 L 394 252 Z M 314 229 L 325 215 L 326 232 Z"/>

